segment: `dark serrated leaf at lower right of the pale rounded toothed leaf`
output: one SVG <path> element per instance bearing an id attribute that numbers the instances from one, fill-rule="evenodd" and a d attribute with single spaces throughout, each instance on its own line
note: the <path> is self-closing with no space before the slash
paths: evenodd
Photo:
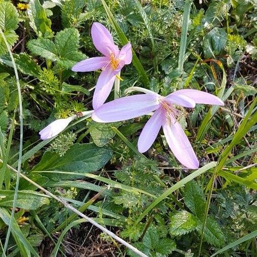
<path id="1" fill-rule="evenodd" d="M 202 232 L 202 222 L 200 222 L 197 230 L 199 233 Z M 225 241 L 225 236 L 222 233 L 219 224 L 211 216 L 207 217 L 206 226 L 204 230 L 204 240 L 213 246 L 222 246 Z"/>

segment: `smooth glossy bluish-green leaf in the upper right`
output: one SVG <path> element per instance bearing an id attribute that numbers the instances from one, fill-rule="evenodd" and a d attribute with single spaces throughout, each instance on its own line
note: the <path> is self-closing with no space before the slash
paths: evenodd
<path id="1" fill-rule="evenodd" d="M 214 27 L 205 37 L 205 58 L 215 57 L 226 46 L 228 35 L 224 28 Z"/>

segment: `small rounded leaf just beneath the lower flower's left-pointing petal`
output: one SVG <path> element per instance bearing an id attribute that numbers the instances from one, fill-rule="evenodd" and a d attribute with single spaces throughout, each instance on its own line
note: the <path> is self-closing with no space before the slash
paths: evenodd
<path id="1" fill-rule="evenodd" d="M 92 122 L 92 124 L 95 124 L 95 122 Z M 111 128 L 112 125 L 112 123 L 98 123 L 97 127 L 90 132 L 90 136 L 97 146 L 106 145 L 115 136 L 115 132 Z"/>

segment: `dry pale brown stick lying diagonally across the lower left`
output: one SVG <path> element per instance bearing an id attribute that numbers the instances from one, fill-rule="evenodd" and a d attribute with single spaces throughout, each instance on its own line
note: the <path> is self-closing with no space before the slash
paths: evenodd
<path id="1" fill-rule="evenodd" d="M 0 163 L 3 163 L 3 160 L 0 159 Z M 15 173 L 18 173 L 18 171 L 16 169 L 14 169 L 12 166 L 7 165 L 8 168 L 12 171 L 14 171 Z M 118 242 L 120 242 L 121 244 L 123 244 L 124 246 L 126 246 L 127 248 L 131 249 L 132 251 L 134 251 L 135 253 L 137 253 L 139 256 L 143 256 L 143 257 L 148 257 L 146 254 L 144 254 L 143 252 L 139 251 L 137 248 L 135 248 L 134 246 L 132 246 L 131 244 L 127 243 L 126 241 L 124 241 L 123 239 L 121 239 L 120 237 L 116 236 L 114 233 L 112 233 L 111 231 L 109 231 L 108 229 L 104 228 L 103 226 L 101 226 L 100 224 L 98 224 L 97 222 L 95 222 L 93 219 L 87 217 L 86 215 L 84 215 L 83 213 L 81 213 L 80 211 L 78 211 L 77 209 L 75 209 L 73 206 L 71 206 L 68 202 L 66 202 L 65 200 L 53 195 L 51 192 L 49 192 L 48 190 L 46 190 L 44 187 L 40 186 L 39 184 L 37 184 L 36 182 L 34 182 L 33 180 L 27 178 L 25 175 L 23 175 L 22 173 L 20 173 L 20 176 L 22 178 L 24 178 L 25 180 L 27 180 L 29 183 L 37 186 L 40 190 L 42 190 L 43 192 L 45 192 L 46 195 L 52 197 L 53 199 L 55 199 L 56 201 L 62 203 L 65 207 L 67 207 L 68 209 L 72 210 L 73 212 L 75 212 L 77 215 L 79 215 L 80 217 L 84 218 L 85 220 L 87 220 L 88 222 L 90 222 L 91 224 L 93 224 L 95 227 L 99 228 L 100 230 L 102 230 L 103 232 L 105 232 L 106 234 L 108 234 L 109 236 L 111 236 L 113 239 L 117 240 Z"/>

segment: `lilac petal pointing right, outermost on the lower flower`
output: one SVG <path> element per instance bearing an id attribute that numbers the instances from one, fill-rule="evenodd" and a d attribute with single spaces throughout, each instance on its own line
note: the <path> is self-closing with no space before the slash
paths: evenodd
<path id="1" fill-rule="evenodd" d="M 194 100 L 197 104 L 207 104 L 207 105 L 224 105 L 223 101 L 215 95 L 203 92 L 196 89 L 181 89 L 177 90 L 171 95 L 185 95 L 186 97 Z"/>

